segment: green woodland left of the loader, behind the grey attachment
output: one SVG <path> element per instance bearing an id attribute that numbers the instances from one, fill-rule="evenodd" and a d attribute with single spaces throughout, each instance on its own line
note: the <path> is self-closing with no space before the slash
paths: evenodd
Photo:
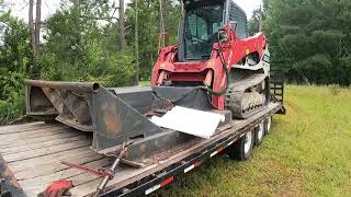
<path id="1" fill-rule="evenodd" d="M 0 0 L 0 123 L 24 113 L 25 79 L 135 85 L 149 79 L 159 33 L 177 40 L 179 0 L 63 0 L 42 19 L 44 1 L 29 0 L 23 21 Z"/>

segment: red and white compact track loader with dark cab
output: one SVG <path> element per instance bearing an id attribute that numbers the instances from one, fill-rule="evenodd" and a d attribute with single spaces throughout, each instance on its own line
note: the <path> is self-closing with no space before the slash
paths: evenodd
<path id="1" fill-rule="evenodd" d="M 249 37 L 233 1 L 184 1 L 178 46 L 160 49 L 152 85 L 200 86 L 213 106 L 247 118 L 269 100 L 270 54 L 263 33 Z"/>

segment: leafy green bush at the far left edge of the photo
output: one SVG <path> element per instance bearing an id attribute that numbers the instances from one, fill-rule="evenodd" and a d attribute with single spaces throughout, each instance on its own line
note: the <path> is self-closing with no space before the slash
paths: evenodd
<path id="1" fill-rule="evenodd" d="M 24 79 L 32 73 L 33 54 L 29 26 L 10 15 L 0 15 L 0 124 L 24 112 Z"/>

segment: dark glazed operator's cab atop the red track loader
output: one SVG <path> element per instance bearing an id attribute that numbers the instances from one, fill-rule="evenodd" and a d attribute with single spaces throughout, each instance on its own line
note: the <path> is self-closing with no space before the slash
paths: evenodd
<path id="1" fill-rule="evenodd" d="M 211 58 L 218 31 L 237 23 L 236 34 L 247 37 L 247 16 L 233 0 L 183 0 L 183 19 L 179 32 L 180 61 L 205 61 Z"/>

